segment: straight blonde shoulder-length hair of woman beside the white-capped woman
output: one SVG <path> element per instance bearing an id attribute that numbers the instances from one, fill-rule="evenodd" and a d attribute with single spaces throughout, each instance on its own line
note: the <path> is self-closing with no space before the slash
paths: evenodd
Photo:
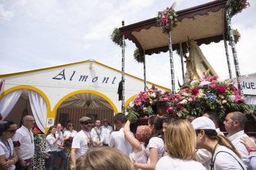
<path id="1" fill-rule="evenodd" d="M 169 124 L 164 140 L 169 156 L 181 160 L 195 160 L 196 135 L 189 121 L 179 120 Z"/>

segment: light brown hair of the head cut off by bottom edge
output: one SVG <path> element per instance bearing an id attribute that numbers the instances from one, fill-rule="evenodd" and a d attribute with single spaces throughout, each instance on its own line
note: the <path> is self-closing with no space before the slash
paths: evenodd
<path id="1" fill-rule="evenodd" d="M 76 169 L 85 170 L 133 170 L 129 157 L 121 150 L 111 147 L 96 147 L 89 149 L 76 160 Z"/>

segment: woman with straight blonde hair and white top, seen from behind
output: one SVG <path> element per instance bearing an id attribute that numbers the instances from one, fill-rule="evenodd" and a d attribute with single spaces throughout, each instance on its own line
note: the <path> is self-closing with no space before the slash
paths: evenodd
<path id="1" fill-rule="evenodd" d="M 167 155 L 156 164 L 157 170 L 164 169 L 205 169 L 195 161 L 195 131 L 187 120 L 168 125 L 164 134 Z"/>

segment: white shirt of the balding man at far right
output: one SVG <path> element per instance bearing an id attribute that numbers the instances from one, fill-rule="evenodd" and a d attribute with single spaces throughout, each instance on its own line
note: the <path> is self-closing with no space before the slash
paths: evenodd
<path id="1" fill-rule="evenodd" d="M 242 144 L 240 141 L 240 138 L 242 136 L 247 136 L 247 134 L 244 133 L 244 130 L 237 132 L 236 134 L 233 134 L 233 136 L 230 136 L 228 134 L 228 139 L 232 142 L 236 150 L 240 153 L 242 156 L 242 162 L 245 164 L 247 169 L 252 169 L 250 166 L 250 163 L 247 161 L 247 158 L 249 156 L 249 153 L 247 151 L 247 148 L 245 147 L 244 144 Z"/>

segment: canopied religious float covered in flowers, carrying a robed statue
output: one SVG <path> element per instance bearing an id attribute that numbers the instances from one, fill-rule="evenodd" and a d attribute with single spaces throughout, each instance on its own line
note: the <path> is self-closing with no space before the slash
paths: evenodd
<path id="1" fill-rule="evenodd" d="M 140 92 L 127 105 L 126 109 L 124 105 L 122 106 L 124 108 L 122 111 L 127 114 L 127 118 L 131 121 L 143 118 L 145 123 L 147 117 L 153 114 L 185 118 L 187 115 L 201 116 L 206 110 L 217 111 L 220 117 L 229 111 L 255 113 L 255 106 L 245 103 L 236 54 L 236 43 L 241 35 L 231 25 L 231 17 L 247 7 L 249 7 L 249 2 L 246 0 L 218 0 L 177 12 L 173 5 L 158 12 L 155 18 L 127 26 L 124 26 L 123 21 L 119 31 L 116 30 L 112 34 L 112 37 L 119 37 L 119 42 L 115 42 L 113 38 L 112 40 L 122 47 L 122 70 L 124 71 L 125 39 L 134 42 L 137 47 L 134 59 L 143 62 L 144 82 L 147 82 L 145 76 L 146 55 L 169 51 L 171 70 L 170 94 L 157 91 L 154 88 L 146 91 L 146 87 L 144 87 L 144 91 Z M 199 47 L 201 44 L 210 44 L 221 40 L 224 42 L 230 79 L 233 78 L 233 75 L 228 44 L 231 46 L 237 88 L 233 86 L 232 80 L 218 80 L 216 72 Z M 174 50 L 180 55 L 182 64 L 183 84 L 177 92 L 174 79 Z M 186 56 L 187 52 L 189 52 L 189 57 Z M 186 73 L 183 60 L 186 60 Z M 122 85 L 124 86 L 124 82 Z M 251 116 L 248 118 L 253 126 L 253 128 L 249 128 L 250 131 L 255 132 L 255 122 L 252 121 Z"/>

